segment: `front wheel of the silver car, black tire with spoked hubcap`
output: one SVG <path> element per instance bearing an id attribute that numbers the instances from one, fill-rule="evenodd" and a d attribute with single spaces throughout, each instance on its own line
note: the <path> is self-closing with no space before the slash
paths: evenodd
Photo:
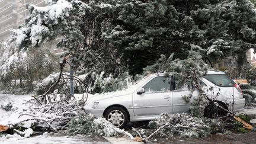
<path id="1" fill-rule="evenodd" d="M 121 107 L 110 107 L 105 112 L 104 117 L 114 126 L 124 128 L 128 122 L 128 112 Z"/>

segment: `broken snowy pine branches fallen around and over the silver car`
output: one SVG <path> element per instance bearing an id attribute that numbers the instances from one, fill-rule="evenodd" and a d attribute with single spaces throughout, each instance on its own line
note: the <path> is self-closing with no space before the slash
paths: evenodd
<path id="1" fill-rule="evenodd" d="M 82 97 L 62 99 L 51 98 L 56 97 L 57 91 L 53 91 L 55 85 L 62 82 L 64 79 L 70 79 L 69 75 L 63 73 L 67 57 L 60 63 L 60 73 L 52 86 L 41 95 L 34 95 L 33 98 L 27 101 L 28 108 L 23 113 L 20 113 L 20 119 L 16 123 L 9 124 L 8 127 L 12 133 L 17 133 L 20 136 L 29 137 L 34 130 L 41 133 L 46 131 L 57 132 L 58 130 L 66 130 L 67 133 L 98 135 L 98 136 L 118 136 L 126 135 L 132 139 L 139 136 L 143 142 L 149 142 L 152 137 L 170 137 L 179 135 L 182 137 L 205 137 L 211 133 L 223 132 L 222 122 L 220 119 L 207 119 L 204 117 L 205 108 L 212 104 L 212 107 L 219 108 L 225 113 L 225 117 L 232 116 L 232 112 L 226 110 L 210 99 L 205 91 L 200 88 L 198 78 L 207 71 L 207 66 L 201 62 L 200 56 L 197 53 L 191 52 L 186 60 L 162 60 L 156 68 L 170 68 L 166 72 L 174 72 L 178 78 L 177 86 L 183 84 L 193 85 L 193 90 L 199 90 L 199 96 L 194 100 L 193 110 L 191 114 L 161 114 L 159 119 L 149 123 L 150 129 L 133 129 L 136 133 L 131 135 L 129 132 L 121 130 L 110 121 L 104 118 L 95 118 L 91 114 L 87 114 L 84 110 L 88 95 L 86 89 L 82 87 L 81 79 L 73 76 L 75 81 L 80 83 L 81 88 L 84 88 Z M 175 67 L 176 66 L 176 67 Z M 151 68 L 154 68 L 152 66 Z M 160 71 L 160 70 L 158 70 Z M 162 70 L 161 70 L 162 71 Z M 192 88 L 192 87 L 191 87 Z M 53 92 L 52 92 L 53 91 Z M 186 100 L 190 101 L 189 97 Z M 9 106 L 8 106 L 9 107 Z M 214 112 L 214 111 L 213 111 Z M 218 117 L 219 118 L 219 117 Z"/>

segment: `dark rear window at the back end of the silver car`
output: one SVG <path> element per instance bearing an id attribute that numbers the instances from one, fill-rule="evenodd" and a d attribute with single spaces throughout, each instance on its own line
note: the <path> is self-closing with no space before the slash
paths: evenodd
<path id="1" fill-rule="evenodd" d="M 226 75 L 204 75 L 208 81 L 219 87 L 233 87 L 235 82 Z"/>

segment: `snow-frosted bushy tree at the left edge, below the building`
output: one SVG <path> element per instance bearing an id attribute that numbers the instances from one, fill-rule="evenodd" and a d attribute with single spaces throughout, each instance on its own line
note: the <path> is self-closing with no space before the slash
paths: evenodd
<path id="1" fill-rule="evenodd" d="M 0 89 L 12 94 L 26 94 L 34 89 L 33 81 L 48 76 L 56 69 L 56 57 L 46 49 L 11 53 L 13 47 L 3 47 L 5 55 L 0 58 Z"/>

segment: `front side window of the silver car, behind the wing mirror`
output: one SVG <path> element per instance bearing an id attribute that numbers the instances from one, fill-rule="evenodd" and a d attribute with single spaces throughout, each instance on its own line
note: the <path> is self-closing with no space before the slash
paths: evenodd
<path id="1" fill-rule="evenodd" d="M 171 76 L 158 76 L 149 81 L 143 88 L 146 92 L 169 91 Z"/>

